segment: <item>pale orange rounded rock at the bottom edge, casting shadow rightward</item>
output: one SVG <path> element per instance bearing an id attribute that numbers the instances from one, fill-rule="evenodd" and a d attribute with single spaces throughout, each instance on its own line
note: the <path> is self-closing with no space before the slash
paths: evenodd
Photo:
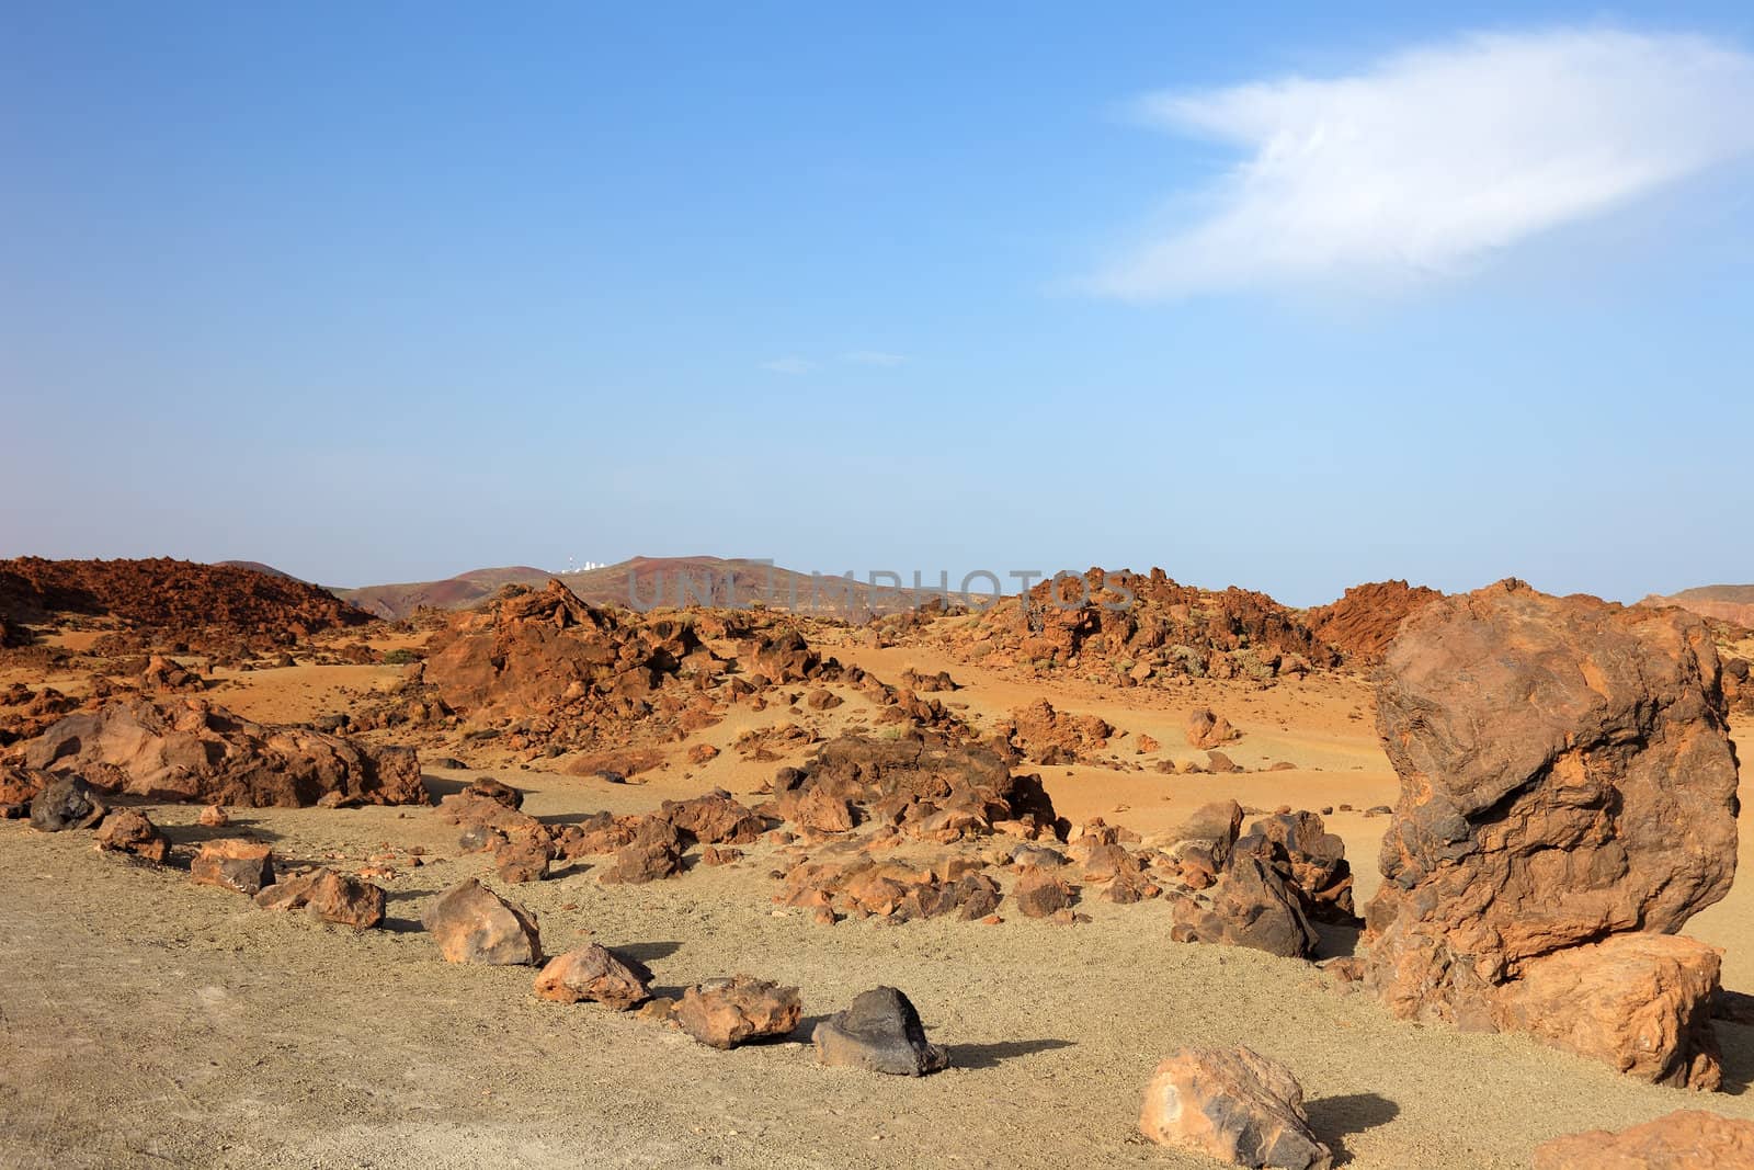
<path id="1" fill-rule="evenodd" d="M 1145 1086 L 1138 1130 L 1158 1145 L 1233 1166 L 1328 1170 L 1333 1151 L 1310 1130 L 1303 1086 L 1252 1049 L 1182 1049 Z"/>

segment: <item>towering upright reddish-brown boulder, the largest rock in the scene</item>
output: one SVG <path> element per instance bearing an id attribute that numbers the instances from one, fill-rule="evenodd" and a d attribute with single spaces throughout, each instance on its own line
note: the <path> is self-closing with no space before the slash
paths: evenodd
<path id="1" fill-rule="evenodd" d="M 1696 617 L 1517 581 L 1431 602 L 1387 649 L 1377 721 L 1401 798 L 1366 909 L 1365 977 L 1396 1014 L 1522 1026 L 1515 1005 L 1545 988 L 1598 988 L 1577 968 L 1591 961 L 1643 963 L 1649 986 L 1712 982 L 1696 956 L 1682 979 L 1665 974 L 1672 956 L 1638 947 L 1549 958 L 1673 933 L 1729 889 L 1736 758 Z M 1522 979 L 1537 984 L 1515 989 Z M 1708 1081 L 1694 1019 L 1698 1005 L 1677 1005 L 1672 1047 L 1628 1072 Z"/>

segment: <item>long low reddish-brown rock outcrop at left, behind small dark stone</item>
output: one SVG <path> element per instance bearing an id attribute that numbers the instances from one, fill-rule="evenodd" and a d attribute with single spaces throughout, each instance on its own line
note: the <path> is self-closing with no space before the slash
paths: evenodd
<path id="1" fill-rule="evenodd" d="M 54 723 L 25 763 L 146 800 L 246 807 L 426 803 L 407 747 L 251 723 L 196 698 L 118 698 Z"/>

